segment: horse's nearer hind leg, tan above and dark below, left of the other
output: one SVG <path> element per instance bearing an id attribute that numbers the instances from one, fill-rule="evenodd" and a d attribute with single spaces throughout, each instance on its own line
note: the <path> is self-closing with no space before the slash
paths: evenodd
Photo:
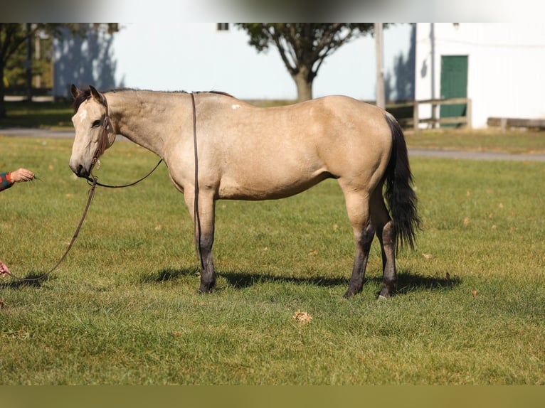
<path id="1" fill-rule="evenodd" d="M 373 242 L 374 228 L 369 219 L 369 198 L 366 193 L 357 191 L 345 191 L 346 210 L 354 230 L 354 241 L 356 243 L 356 257 L 345 298 L 359 294 L 364 286 L 365 269 L 369 257 L 369 249 Z"/>

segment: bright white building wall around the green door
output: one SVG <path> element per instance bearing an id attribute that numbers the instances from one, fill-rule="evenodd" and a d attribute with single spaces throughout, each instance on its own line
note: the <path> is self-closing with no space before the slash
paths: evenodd
<path id="1" fill-rule="evenodd" d="M 544 23 L 418 23 L 416 99 L 441 96 L 442 55 L 468 55 L 473 127 L 486 127 L 488 117 L 545 117 Z M 420 117 L 430 116 L 421 105 Z"/>

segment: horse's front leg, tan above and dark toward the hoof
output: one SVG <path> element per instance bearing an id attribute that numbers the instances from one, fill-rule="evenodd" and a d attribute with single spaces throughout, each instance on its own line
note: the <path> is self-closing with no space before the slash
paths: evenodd
<path id="1" fill-rule="evenodd" d="M 199 293 L 206 294 L 213 291 L 216 286 L 216 272 L 212 257 L 216 202 L 213 194 L 200 193 L 196 202 L 194 195 L 186 195 L 186 204 L 194 221 L 195 247 L 201 264 Z"/>

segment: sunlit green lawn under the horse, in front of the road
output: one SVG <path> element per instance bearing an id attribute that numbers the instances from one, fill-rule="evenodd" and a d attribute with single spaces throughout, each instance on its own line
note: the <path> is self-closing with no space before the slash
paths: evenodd
<path id="1" fill-rule="evenodd" d="M 0 193 L 0 259 L 37 276 L 68 245 L 89 186 L 68 168 L 70 140 L 0 143 L 1 169 L 40 177 Z M 156 162 L 118 142 L 97 175 L 125 183 Z M 376 300 L 376 242 L 364 291 L 342 299 L 354 245 L 334 181 L 219 202 L 218 289 L 206 296 L 165 166 L 132 188 L 98 188 L 56 272 L 0 281 L 0 384 L 544 385 L 545 163 L 411 164 L 423 231 L 398 255 L 388 301 Z"/>

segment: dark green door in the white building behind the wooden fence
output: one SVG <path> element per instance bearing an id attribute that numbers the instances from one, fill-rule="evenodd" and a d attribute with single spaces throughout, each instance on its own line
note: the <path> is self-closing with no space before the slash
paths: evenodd
<path id="1" fill-rule="evenodd" d="M 467 55 L 441 56 L 441 98 L 467 97 Z M 441 105 L 440 117 L 459 117 L 466 115 L 466 104 Z M 455 127 L 460 124 L 443 124 L 442 127 Z"/>

